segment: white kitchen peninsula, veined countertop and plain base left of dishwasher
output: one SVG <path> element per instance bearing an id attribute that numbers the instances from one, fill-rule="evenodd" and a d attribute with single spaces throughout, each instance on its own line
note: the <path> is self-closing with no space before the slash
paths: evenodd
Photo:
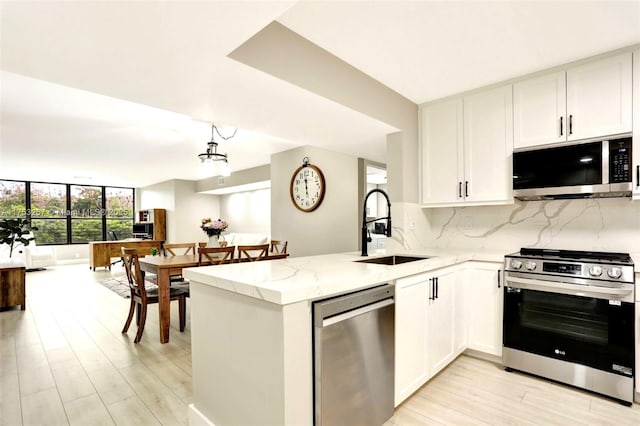
<path id="1" fill-rule="evenodd" d="M 386 266 L 357 253 L 185 269 L 191 281 L 191 425 L 313 423 L 313 301 L 505 252 L 407 253 Z"/>

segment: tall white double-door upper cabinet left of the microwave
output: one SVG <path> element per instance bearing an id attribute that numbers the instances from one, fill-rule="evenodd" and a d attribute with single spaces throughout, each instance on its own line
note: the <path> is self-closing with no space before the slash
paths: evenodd
<path id="1" fill-rule="evenodd" d="M 422 204 L 513 202 L 512 86 L 421 109 Z"/>

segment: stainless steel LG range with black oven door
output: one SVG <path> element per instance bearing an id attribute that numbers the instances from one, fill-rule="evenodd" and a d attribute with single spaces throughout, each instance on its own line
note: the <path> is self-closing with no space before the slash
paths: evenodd
<path id="1" fill-rule="evenodd" d="M 634 265 L 626 253 L 505 256 L 502 362 L 633 402 Z"/>

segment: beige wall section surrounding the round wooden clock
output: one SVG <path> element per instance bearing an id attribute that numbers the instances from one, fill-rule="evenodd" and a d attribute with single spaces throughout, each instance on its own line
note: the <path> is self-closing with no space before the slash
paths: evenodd
<path id="1" fill-rule="evenodd" d="M 327 185 L 322 204 L 310 213 L 298 210 L 289 195 L 291 176 L 305 156 Z M 308 146 L 271 156 L 271 235 L 289 242 L 291 256 L 356 251 L 358 218 L 356 157 Z"/>

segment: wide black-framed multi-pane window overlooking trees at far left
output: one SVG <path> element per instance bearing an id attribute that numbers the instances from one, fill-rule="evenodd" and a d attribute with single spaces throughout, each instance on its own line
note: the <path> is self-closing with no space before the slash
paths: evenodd
<path id="1" fill-rule="evenodd" d="M 38 244 L 130 238 L 134 189 L 0 180 L 0 218 L 27 218 Z"/>

